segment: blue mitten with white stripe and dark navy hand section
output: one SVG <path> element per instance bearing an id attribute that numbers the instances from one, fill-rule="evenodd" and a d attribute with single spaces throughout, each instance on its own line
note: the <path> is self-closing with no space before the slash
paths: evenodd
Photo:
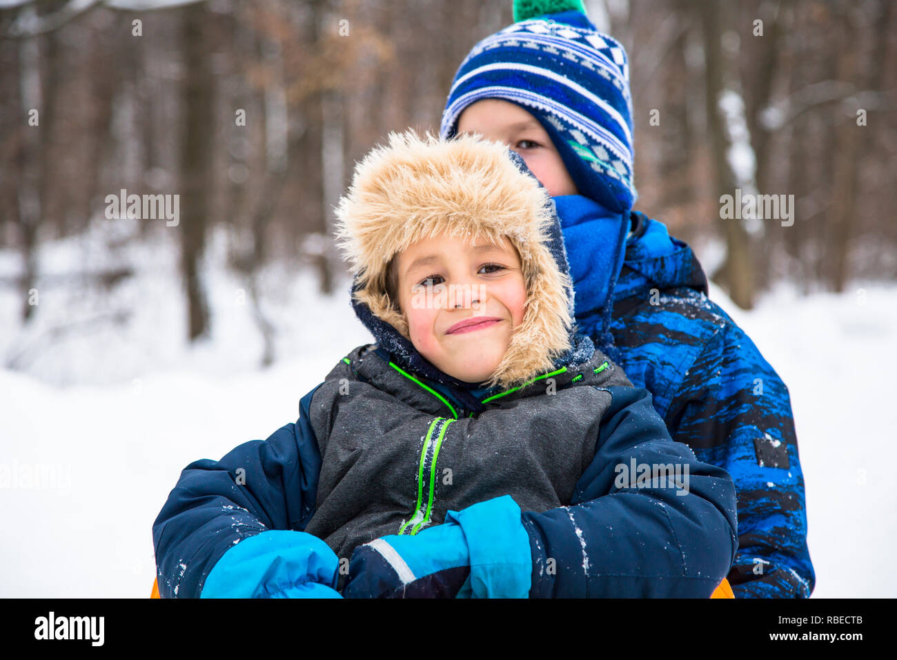
<path id="1" fill-rule="evenodd" d="M 533 568 L 520 507 L 509 496 L 449 511 L 414 536 L 359 546 L 347 598 L 526 598 Z"/>

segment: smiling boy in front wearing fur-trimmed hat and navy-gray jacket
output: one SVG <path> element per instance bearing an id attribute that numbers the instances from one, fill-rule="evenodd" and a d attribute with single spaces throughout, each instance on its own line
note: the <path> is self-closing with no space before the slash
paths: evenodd
<path id="1" fill-rule="evenodd" d="M 295 424 L 187 466 L 153 525 L 161 594 L 709 596 L 732 481 L 573 330 L 561 227 L 519 156 L 393 134 L 337 215 L 378 343 Z"/>

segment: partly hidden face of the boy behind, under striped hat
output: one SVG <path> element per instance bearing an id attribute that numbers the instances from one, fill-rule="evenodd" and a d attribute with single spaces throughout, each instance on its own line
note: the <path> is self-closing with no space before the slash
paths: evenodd
<path id="1" fill-rule="evenodd" d="M 520 106 L 501 99 L 476 101 L 458 118 L 457 133 L 479 133 L 508 145 L 523 157 L 552 197 L 579 194 L 551 137 Z"/>

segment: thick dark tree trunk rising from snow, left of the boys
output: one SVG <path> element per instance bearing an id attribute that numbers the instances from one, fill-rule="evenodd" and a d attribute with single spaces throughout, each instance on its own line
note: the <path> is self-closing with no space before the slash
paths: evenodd
<path id="1" fill-rule="evenodd" d="M 205 4 L 189 4 L 183 10 L 181 44 L 184 53 L 181 137 L 181 273 L 187 287 L 187 337 L 191 341 L 209 331 L 209 307 L 199 272 L 208 223 L 212 167 L 213 93 L 205 48 Z"/>

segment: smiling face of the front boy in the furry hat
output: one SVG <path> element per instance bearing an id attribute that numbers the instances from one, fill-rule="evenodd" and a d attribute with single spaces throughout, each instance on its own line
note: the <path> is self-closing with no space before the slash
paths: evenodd
<path id="1" fill-rule="evenodd" d="M 440 234 L 396 255 L 398 302 L 414 348 L 467 383 L 489 380 L 523 321 L 520 257 L 502 240 L 472 244 Z"/>

